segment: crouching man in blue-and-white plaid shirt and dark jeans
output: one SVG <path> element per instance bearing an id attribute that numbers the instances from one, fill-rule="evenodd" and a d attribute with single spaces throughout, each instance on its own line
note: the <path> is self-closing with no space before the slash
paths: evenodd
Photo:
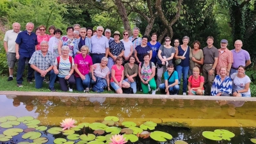
<path id="1" fill-rule="evenodd" d="M 36 88 L 42 88 L 44 77 L 50 76 L 49 90 L 55 92 L 54 81 L 56 74 L 52 69 L 54 66 L 55 58 L 51 51 L 48 51 L 49 45 L 47 41 L 40 43 L 41 50 L 35 51 L 29 60 L 31 68 L 35 70 Z"/>

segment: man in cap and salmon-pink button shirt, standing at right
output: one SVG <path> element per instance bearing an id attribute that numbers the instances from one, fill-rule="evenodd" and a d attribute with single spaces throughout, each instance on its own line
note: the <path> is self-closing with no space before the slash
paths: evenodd
<path id="1" fill-rule="evenodd" d="M 228 46 L 228 41 L 225 39 L 221 40 L 221 42 L 220 42 L 221 48 L 218 50 L 219 51 L 219 59 L 218 59 L 217 67 L 216 67 L 216 73 L 218 75 L 220 75 L 220 68 L 226 67 L 227 68 L 227 76 L 229 76 L 230 68 L 234 61 L 233 54 L 231 51 L 228 50 L 227 46 Z"/>

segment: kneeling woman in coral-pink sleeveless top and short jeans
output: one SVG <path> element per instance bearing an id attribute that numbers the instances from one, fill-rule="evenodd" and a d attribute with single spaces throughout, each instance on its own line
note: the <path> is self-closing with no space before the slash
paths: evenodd
<path id="1" fill-rule="evenodd" d="M 124 67 L 122 66 L 122 57 L 118 56 L 116 58 L 116 65 L 111 68 L 111 79 L 110 85 L 116 93 L 123 93 L 122 88 L 129 88 L 130 84 L 124 81 Z"/>

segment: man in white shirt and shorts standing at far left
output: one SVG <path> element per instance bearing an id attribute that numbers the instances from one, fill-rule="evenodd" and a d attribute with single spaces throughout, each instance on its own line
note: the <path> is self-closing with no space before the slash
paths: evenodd
<path id="1" fill-rule="evenodd" d="M 12 30 L 6 31 L 4 35 L 4 50 L 7 56 L 7 63 L 9 67 L 9 78 L 7 81 L 13 80 L 13 68 L 15 67 L 16 59 L 16 51 L 15 51 L 15 40 L 20 33 L 20 24 L 18 22 L 14 22 L 12 24 Z"/>

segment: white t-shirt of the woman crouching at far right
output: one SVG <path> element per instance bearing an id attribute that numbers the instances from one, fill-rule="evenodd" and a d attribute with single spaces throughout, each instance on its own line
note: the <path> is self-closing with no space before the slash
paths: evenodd
<path id="1" fill-rule="evenodd" d="M 250 80 L 250 77 L 248 76 L 245 76 L 243 78 L 239 78 L 236 76 L 237 73 L 234 73 L 231 75 L 231 79 L 233 79 L 233 92 L 234 91 L 238 91 L 238 90 L 244 90 L 244 86 L 246 83 L 250 83 L 251 80 Z M 249 88 L 248 92 L 244 92 L 242 93 L 244 95 L 251 95 L 251 90 Z"/>

